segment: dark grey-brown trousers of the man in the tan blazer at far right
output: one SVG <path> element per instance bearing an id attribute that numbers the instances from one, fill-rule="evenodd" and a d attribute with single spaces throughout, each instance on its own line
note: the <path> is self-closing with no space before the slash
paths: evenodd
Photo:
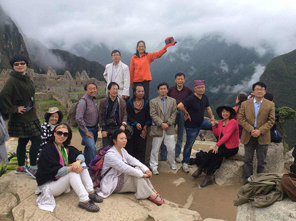
<path id="1" fill-rule="evenodd" d="M 268 145 L 260 145 L 258 138 L 251 137 L 245 147 L 244 170 L 245 183 L 248 183 L 248 178 L 253 175 L 253 158 L 256 150 L 257 154 L 257 173 L 265 173 L 267 165 L 267 150 Z"/>

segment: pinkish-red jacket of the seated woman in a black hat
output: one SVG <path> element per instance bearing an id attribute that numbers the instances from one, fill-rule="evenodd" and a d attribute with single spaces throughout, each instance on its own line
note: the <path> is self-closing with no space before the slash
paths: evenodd
<path id="1" fill-rule="evenodd" d="M 225 127 L 222 126 L 223 121 L 224 119 L 220 120 L 218 124 L 218 128 L 216 128 L 216 126 L 212 126 L 214 136 L 219 137 L 217 145 L 221 146 L 222 144 L 225 144 L 227 149 L 238 147 L 239 134 L 238 134 L 238 125 L 236 120 L 235 119 L 229 120 L 228 123 L 225 125 Z M 220 138 L 221 131 L 223 131 L 222 138 Z"/>

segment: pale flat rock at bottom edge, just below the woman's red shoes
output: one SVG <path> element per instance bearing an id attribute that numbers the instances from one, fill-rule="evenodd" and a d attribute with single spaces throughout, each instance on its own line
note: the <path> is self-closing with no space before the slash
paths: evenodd
<path id="1" fill-rule="evenodd" d="M 166 204 L 159 206 L 148 214 L 154 221 L 202 221 L 196 211 L 174 208 Z"/>

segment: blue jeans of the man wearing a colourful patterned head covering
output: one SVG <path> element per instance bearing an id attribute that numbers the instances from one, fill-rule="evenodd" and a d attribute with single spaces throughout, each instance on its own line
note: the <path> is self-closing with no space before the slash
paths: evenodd
<path id="1" fill-rule="evenodd" d="M 183 160 L 182 163 L 189 163 L 191 149 L 196 140 L 196 137 L 200 130 L 212 130 L 212 124 L 209 120 L 203 120 L 199 127 L 187 128 L 186 130 L 186 144 L 183 150 Z"/>

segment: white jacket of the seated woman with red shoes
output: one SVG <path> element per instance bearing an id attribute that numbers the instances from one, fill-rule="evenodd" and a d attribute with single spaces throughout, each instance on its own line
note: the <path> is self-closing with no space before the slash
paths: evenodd
<path id="1" fill-rule="evenodd" d="M 118 177 L 121 174 L 126 173 L 141 178 L 143 177 L 143 174 L 149 170 L 147 166 L 128 154 L 124 148 L 121 149 L 121 154 L 122 156 L 114 146 L 105 154 L 101 174 L 104 174 L 110 167 L 112 167 L 112 169 L 101 180 L 100 188 L 97 188 L 97 190 L 99 190 L 99 196 L 106 198 L 111 195 L 116 188 Z M 135 169 L 132 166 L 138 166 L 141 170 Z"/>

